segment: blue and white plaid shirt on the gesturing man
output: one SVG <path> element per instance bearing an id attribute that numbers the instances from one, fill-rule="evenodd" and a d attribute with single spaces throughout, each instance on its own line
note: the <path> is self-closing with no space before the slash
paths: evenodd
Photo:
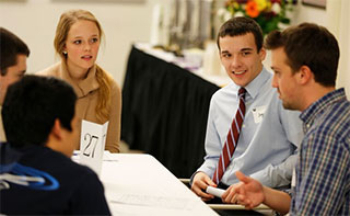
<path id="1" fill-rule="evenodd" d="M 302 114 L 290 215 L 350 215 L 350 102 L 339 89 Z"/>

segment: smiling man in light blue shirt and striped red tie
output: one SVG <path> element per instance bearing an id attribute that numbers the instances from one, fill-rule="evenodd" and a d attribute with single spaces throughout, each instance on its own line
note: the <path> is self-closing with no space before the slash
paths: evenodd
<path id="1" fill-rule="evenodd" d="M 270 86 L 262 42 L 260 26 L 249 18 L 230 19 L 219 31 L 220 59 L 232 82 L 211 99 L 207 155 L 191 177 L 191 190 L 203 201 L 213 198 L 205 192 L 208 186 L 235 186 L 237 170 L 267 186 L 290 185 L 302 124 Z"/>

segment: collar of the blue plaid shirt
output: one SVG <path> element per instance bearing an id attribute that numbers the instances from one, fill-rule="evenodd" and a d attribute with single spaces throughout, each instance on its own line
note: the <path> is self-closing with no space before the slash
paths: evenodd
<path id="1" fill-rule="evenodd" d="M 313 124 L 317 115 L 322 114 L 327 106 L 337 101 L 345 100 L 347 100 L 345 89 L 340 88 L 325 94 L 323 98 L 311 104 L 300 115 L 300 118 L 304 122 L 304 130 L 306 130 Z"/>

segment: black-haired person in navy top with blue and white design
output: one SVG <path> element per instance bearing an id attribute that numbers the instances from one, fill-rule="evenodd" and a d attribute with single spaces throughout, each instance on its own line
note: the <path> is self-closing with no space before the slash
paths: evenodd
<path id="1" fill-rule="evenodd" d="M 1 214 L 110 215 L 97 175 L 70 159 L 79 138 L 75 102 L 73 88 L 56 78 L 25 76 L 9 87 Z"/>

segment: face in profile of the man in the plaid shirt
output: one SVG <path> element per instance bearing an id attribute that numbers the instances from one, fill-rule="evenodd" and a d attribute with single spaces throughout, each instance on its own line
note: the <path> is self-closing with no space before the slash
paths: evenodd
<path id="1" fill-rule="evenodd" d="M 283 47 L 271 50 L 271 68 L 275 72 L 272 87 L 277 88 L 283 107 L 288 110 L 301 110 L 301 99 L 298 86 L 299 71 L 293 73 L 292 68 L 287 64 L 287 55 Z"/>

